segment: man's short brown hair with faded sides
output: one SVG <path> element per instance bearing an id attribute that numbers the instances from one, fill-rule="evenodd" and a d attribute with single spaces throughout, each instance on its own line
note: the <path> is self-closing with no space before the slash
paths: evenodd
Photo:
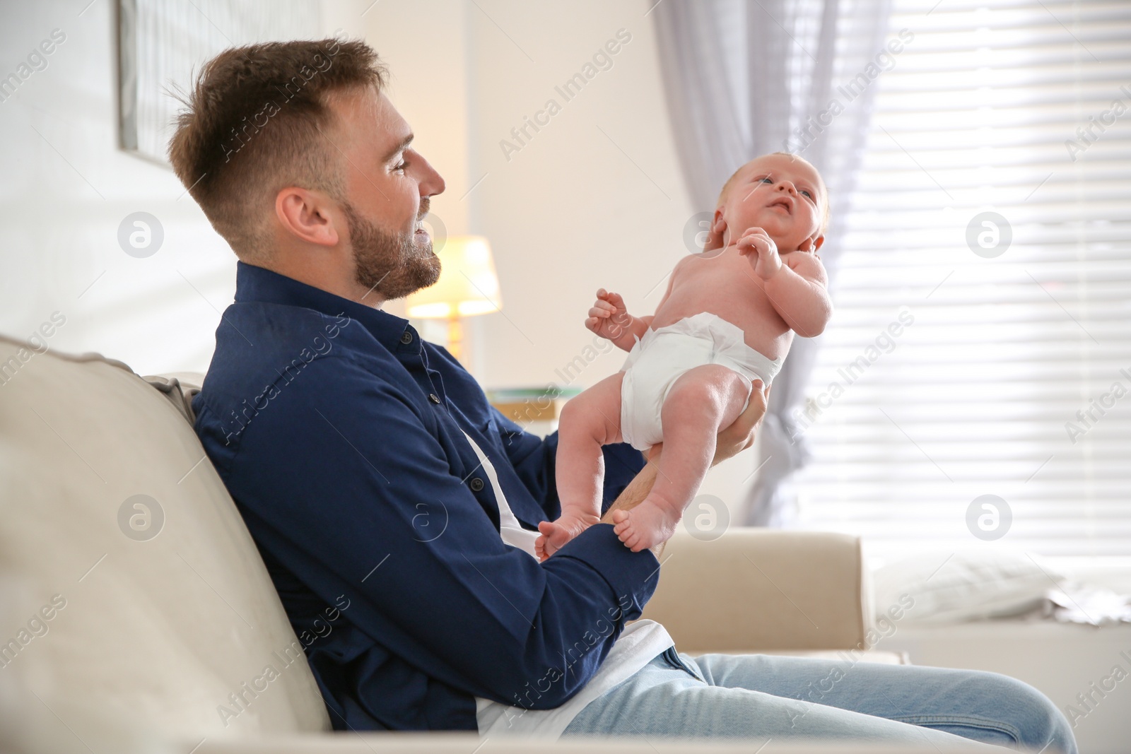
<path id="1" fill-rule="evenodd" d="M 233 251 L 270 255 L 266 218 L 288 185 L 344 197 L 340 156 L 325 135 L 330 94 L 386 83 L 364 42 L 266 42 L 219 53 L 182 102 L 169 161 Z"/>

